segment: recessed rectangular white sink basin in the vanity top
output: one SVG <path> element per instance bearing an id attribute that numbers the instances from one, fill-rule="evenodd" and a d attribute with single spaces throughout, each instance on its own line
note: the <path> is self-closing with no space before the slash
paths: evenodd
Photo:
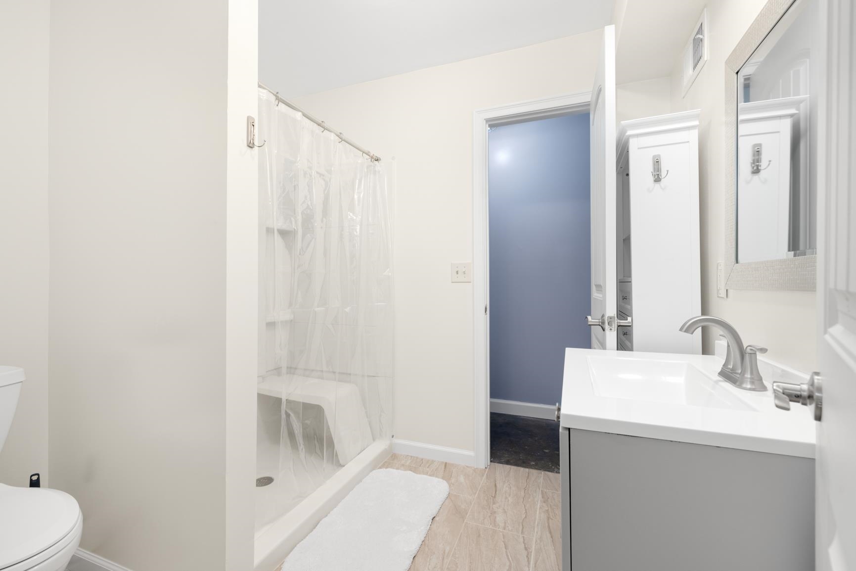
<path id="1" fill-rule="evenodd" d="M 589 356 L 595 395 L 633 401 L 663 402 L 696 407 L 756 410 L 734 396 L 714 378 L 681 360 Z"/>

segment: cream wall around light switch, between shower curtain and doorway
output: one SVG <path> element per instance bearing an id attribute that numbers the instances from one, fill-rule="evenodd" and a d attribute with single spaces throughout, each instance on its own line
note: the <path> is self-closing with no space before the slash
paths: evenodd
<path id="1" fill-rule="evenodd" d="M 473 111 L 590 92 L 601 32 L 295 100 L 397 171 L 395 437 L 473 449 Z M 261 78 L 265 80 L 265 78 Z M 276 89 L 276 86 L 271 86 Z M 393 159 L 395 158 L 395 160 Z"/>

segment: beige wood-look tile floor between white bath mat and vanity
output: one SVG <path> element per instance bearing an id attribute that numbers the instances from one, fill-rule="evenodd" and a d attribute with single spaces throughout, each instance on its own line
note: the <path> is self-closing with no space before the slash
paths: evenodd
<path id="1" fill-rule="evenodd" d="M 400 454 L 381 467 L 449 483 L 449 498 L 431 522 L 411 571 L 561 568 L 558 474 L 502 464 L 473 468 Z"/>

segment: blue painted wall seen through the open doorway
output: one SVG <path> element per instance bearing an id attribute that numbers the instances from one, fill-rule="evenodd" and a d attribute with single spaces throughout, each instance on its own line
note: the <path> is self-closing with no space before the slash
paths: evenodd
<path id="1" fill-rule="evenodd" d="M 490 398 L 553 405 L 591 347 L 589 115 L 490 131 Z"/>

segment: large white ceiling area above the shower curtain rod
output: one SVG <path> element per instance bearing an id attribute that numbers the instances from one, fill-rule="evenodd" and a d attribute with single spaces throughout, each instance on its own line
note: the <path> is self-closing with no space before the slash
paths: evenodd
<path id="1" fill-rule="evenodd" d="M 613 0 L 259 0 L 259 80 L 297 97 L 588 32 L 612 9 Z"/>

